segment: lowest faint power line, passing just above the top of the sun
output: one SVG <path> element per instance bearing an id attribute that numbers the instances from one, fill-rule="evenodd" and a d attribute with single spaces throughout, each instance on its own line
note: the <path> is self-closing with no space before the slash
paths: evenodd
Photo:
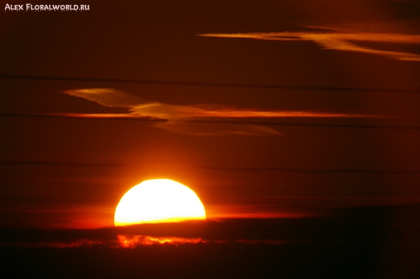
<path id="1" fill-rule="evenodd" d="M 415 175 L 420 171 L 377 171 L 369 169 L 292 169 L 276 167 L 258 168 L 228 168 L 217 166 L 176 166 L 176 165 L 146 165 L 146 164 L 85 164 L 85 163 L 66 163 L 52 161 L 2 161 L 0 166 L 59 166 L 76 168 L 115 168 L 115 167 L 145 167 L 145 168 L 167 168 L 167 169 L 201 169 L 204 171 L 235 171 L 235 172 L 255 172 L 255 171 L 275 171 L 286 173 L 365 173 L 375 175 Z"/>

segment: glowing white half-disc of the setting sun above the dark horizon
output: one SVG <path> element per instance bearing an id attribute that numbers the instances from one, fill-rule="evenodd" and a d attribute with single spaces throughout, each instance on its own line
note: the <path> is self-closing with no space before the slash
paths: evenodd
<path id="1" fill-rule="evenodd" d="M 195 192 L 169 179 L 146 180 L 121 198 L 114 215 L 116 226 L 205 220 L 206 211 Z"/>

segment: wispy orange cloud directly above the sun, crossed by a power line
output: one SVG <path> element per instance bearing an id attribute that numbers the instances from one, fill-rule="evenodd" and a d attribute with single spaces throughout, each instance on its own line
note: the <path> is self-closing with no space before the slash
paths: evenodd
<path id="1" fill-rule="evenodd" d="M 148 101 L 137 95 L 114 90 L 110 88 L 92 88 L 81 90 L 67 90 L 64 93 L 94 101 L 107 107 L 127 108 L 129 113 L 109 114 L 61 114 L 67 117 L 108 118 L 108 119 L 145 119 L 158 120 L 155 127 L 178 134 L 192 135 L 226 135 L 242 136 L 268 136 L 281 135 L 275 129 L 258 124 L 230 125 L 223 127 L 218 124 L 208 124 L 205 129 L 199 123 L 171 122 L 176 120 L 207 119 L 237 119 L 237 118 L 296 118 L 296 117 L 374 117 L 373 115 L 359 115 L 350 113 L 325 113 L 316 111 L 290 111 L 290 110 L 256 110 L 249 108 L 235 108 L 213 104 L 200 104 L 181 106 L 157 101 Z M 162 120 L 162 121 L 159 121 Z M 169 120 L 169 121 L 165 121 Z"/>

